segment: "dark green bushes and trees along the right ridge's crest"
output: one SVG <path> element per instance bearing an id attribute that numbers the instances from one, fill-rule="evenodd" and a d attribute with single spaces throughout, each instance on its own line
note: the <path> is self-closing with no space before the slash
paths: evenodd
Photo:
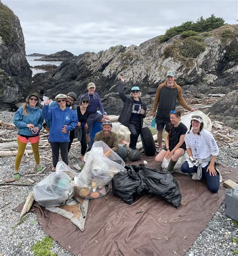
<path id="1" fill-rule="evenodd" d="M 182 34 L 186 37 L 194 36 L 196 33 L 211 31 L 215 28 L 219 28 L 225 24 L 224 22 L 225 21 L 223 18 L 215 17 L 214 14 L 206 19 L 201 16 L 196 22 L 186 21 L 180 26 L 167 29 L 165 35 L 161 36 L 160 40 L 162 42 L 166 42 L 173 36 L 179 34 Z"/>

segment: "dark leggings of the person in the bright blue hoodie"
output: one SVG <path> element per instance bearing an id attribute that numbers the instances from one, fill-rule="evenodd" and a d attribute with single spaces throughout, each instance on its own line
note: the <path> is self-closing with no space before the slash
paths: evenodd
<path id="1" fill-rule="evenodd" d="M 50 142 L 54 167 L 56 167 L 57 163 L 59 162 L 59 151 L 62 161 L 65 162 L 67 165 L 69 164 L 67 151 L 68 144 L 68 142 Z"/>

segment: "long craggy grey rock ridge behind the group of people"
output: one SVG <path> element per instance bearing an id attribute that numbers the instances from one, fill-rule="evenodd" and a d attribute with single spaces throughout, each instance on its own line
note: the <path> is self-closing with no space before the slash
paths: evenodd
<path id="1" fill-rule="evenodd" d="M 45 95 L 53 98 L 68 91 L 80 96 L 86 92 L 86 85 L 94 82 L 109 114 L 121 109 L 117 86 L 111 88 L 117 84 L 118 74 L 126 79 L 127 93 L 138 85 L 142 95 L 148 95 L 147 104 L 153 102 L 157 86 L 165 80 L 168 70 L 175 71 L 179 85 L 186 85 L 183 91 L 187 97 L 198 93 L 227 94 L 237 86 L 237 35 L 238 25 L 225 25 L 192 38 L 177 35 L 161 43 L 158 36 L 139 46 L 118 45 L 98 53 L 85 52 L 74 60 L 63 61 L 51 73 L 50 82 L 45 81 L 44 74 L 34 77 L 33 86 L 45 88 Z"/>

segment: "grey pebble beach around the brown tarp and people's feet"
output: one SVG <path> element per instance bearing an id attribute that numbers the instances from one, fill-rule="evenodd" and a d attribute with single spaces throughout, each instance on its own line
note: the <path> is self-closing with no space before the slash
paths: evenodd
<path id="1" fill-rule="evenodd" d="M 4 122 L 13 122 L 13 112 L 2 111 L 0 112 L 0 120 Z M 2 129 L 2 128 L 1 128 Z M 6 130 L 2 138 L 16 138 L 17 130 Z M 79 164 L 80 147 L 74 147 L 74 154 L 72 151 L 69 153 L 70 166 Z M 220 147 L 220 155 L 217 159 L 218 163 L 221 163 L 230 167 L 238 167 L 237 160 L 237 138 L 233 140 L 230 145 L 223 145 Z M 49 161 L 49 149 L 40 149 L 40 156 L 42 158 L 42 165 L 47 166 L 45 172 L 48 175 L 50 172 L 51 162 Z M 0 179 L 9 179 L 12 177 L 14 171 L 15 156 L 1 157 L 0 158 Z M 21 174 L 34 173 L 35 162 L 33 155 L 24 155 L 22 163 L 20 165 Z M 43 177 L 34 176 L 31 177 L 35 182 L 39 182 Z M 23 177 L 22 179 L 27 179 Z M 21 179 L 21 180 L 22 180 Z M 41 240 L 47 234 L 42 230 L 40 224 L 37 222 L 36 215 L 34 213 L 28 213 L 22 223 L 19 221 L 19 213 L 13 211 L 19 204 L 25 201 L 32 187 L 28 186 L 1 186 L 1 198 L 0 198 L 0 255 L 30 255 L 33 254 L 31 246 L 37 241 Z M 238 251 L 238 244 L 233 242 L 233 237 L 238 238 L 238 225 L 226 217 L 224 214 L 224 203 L 221 204 L 213 218 L 207 224 L 206 228 L 199 234 L 197 239 L 193 242 L 192 246 L 187 252 L 184 252 L 186 256 L 192 255 L 234 255 L 233 251 Z M 53 241 L 51 252 L 58 255 L 69 255 L 70 253 L 61 247 L 59 243 Z M 67 254 L 66 254 L 67 253 Z M 238 253 L 236 253 L 238 255 Z"/>

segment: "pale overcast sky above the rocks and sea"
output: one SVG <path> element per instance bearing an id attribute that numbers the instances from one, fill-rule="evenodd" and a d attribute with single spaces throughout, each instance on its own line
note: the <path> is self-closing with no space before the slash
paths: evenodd
<path id="1" fill-rule="evenodd" d="M 0 0 L 1 1 L 1 0 Z M 27 54 L 75 55 L 140 43 L 188 20 L 214 14 L 237 24 L 237 1 L 2 0 L 19 17 Z"/>

